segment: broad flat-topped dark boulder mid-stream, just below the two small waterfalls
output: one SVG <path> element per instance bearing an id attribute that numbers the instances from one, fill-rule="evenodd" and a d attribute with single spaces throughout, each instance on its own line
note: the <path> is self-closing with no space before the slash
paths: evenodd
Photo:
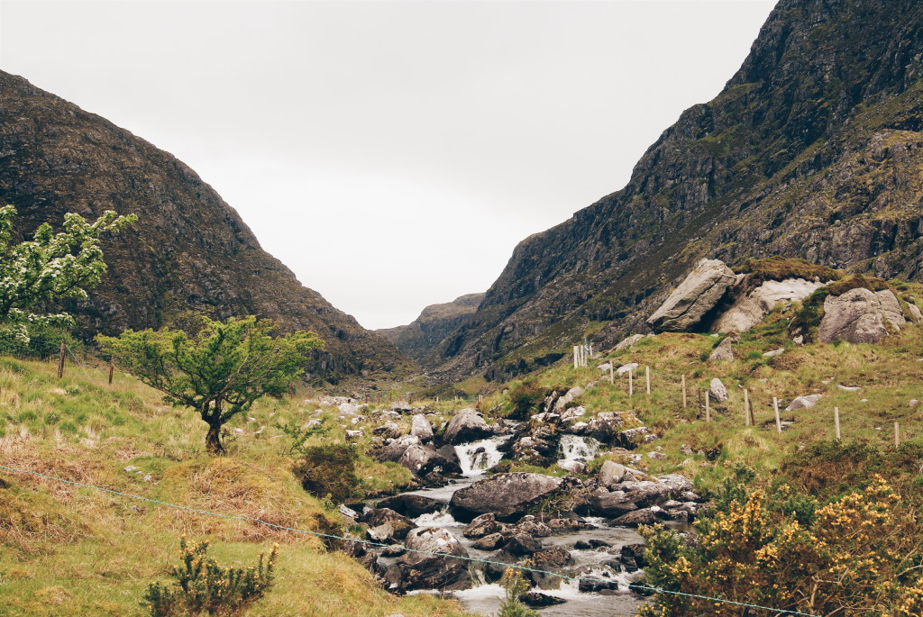
<path id="1" fill-rule="evenodd" d="M 490 512 L 497 520 L 516 520 L 539 499 L 557 491 L 561 481 L 540 473 L 501 473 L 455 492 L 450 501 L 451 512 L 463 521 Z"/>

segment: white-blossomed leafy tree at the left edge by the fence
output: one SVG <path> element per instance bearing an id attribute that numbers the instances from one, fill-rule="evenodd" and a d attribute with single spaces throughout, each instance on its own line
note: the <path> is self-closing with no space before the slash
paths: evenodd
<path id="1" fill-rule="evenodd" d="M 66 313 L 36 314 L 45 302 L 82 300 L 106 271 L 102 261 L 100 233 L 121 231 L 138 220 L 134 214 L 120 217 L 107 210 L 94 222 L 78 214 L 64 217 L 64 231 L 55 233 L 43 223 L 32 240 L 11 243 L 16 208 L 0 208 L 0 322 L 14 327 L 19 338 L 28 338 L 26 326 L 70 326 Z"/>

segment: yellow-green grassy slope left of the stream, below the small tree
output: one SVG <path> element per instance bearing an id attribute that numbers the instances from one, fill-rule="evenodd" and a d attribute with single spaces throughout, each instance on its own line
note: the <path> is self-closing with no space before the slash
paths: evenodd
<path id="1" fill-rule="evenodd" d="M 259 404 L 253 421 L 232 422 L 243 433 L 216 458 L 204 454 L 205 425 L 193 412 L 164 405 L 132 378 L 116 375 L 107 386 L 102 370 L 71 367 L 58 380 L 54 369 L 0 359 L 0 464 L 285 527 L 341 530 L 331 505 L 295 481 L 287 437 L 274 428 L 304 422 L 314 406 Z M 367 459 L 357 473 L 366 492 L 409 479 Z M 276 584 L 247 614 L 462 614 L 426 595 L 390 596 L 311 536 L 0 470 L 0 615 L 146 614 L 139 601 L 151 582 L 169 580 L 181 534 L 210 540 L 210 556 L 225 566 L 254 564 L 281 545 Z"/>

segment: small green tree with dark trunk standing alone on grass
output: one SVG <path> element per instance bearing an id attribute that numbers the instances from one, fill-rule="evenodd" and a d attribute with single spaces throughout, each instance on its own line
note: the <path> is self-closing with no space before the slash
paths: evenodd
<path id="1" fill-rule="evenodd" d="M 205 317 L 203 323 L 193 338 L 165 328 L 98 339 L 167 402 L 196 409 L 209 425 L 209 451 L 223 454 L 222 426 L 260 397 L 282 397 L 322 342 L 312 332 L 273 337 L 277 326 L 253 315 L 223 323 Z"/>

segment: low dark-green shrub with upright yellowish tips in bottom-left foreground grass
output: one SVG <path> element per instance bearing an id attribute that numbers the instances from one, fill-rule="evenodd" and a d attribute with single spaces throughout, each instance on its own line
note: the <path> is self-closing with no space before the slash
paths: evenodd
<path id="1" fill-rule="evenodd" d="M 150 609 L 151 617 L 179 615 L 240 615 L 263 597 L 272 585 L 273 569 L 279 555 L 279 545 L 269 556 L 259 553 L 255 567 L 222 568 L 205 556 L 209 543 L 179 542 L 183 564 L 172 566 L 174 586 L 151 583 L 142 606 Z"/>

